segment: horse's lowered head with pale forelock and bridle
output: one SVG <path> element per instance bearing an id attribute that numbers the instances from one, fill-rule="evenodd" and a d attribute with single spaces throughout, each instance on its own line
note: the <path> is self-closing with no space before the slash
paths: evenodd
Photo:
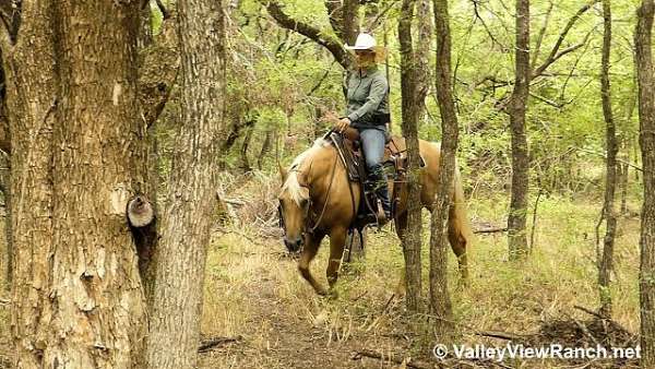
<path id="1" fill-rule="evenodd" d="M 290 252 L 300 251 L 310 207 L 309 188 L 300 184 L 299 174 L 279 168 L 282 190 L 279 200 L 279 225 L 284 230 L 284 245 Z"/>

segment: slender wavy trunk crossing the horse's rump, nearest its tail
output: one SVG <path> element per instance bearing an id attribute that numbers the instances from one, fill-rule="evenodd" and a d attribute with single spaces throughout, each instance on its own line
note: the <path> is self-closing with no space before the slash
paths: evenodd
<path id="1" fill-rule="evenodd" d="M 434 0 L 434 29 L 437 34 L 437 99 L 441 111 L 441 159 L 439 187 L 432 206 L 430 227 L 430 306 L 438 337 L 452 334 L 452 303 L 448 289 L 448 215 L 452 203 L 458 126 L 452 93 L 450 16 L 446 0 Z"/>

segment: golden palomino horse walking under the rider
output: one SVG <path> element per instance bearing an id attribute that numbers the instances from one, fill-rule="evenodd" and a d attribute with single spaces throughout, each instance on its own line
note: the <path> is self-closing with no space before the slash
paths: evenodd
<path id="1" fill-rule="evenodd" d="M 424 207 L 431 210 L 439 182 L 440 148 L 434 143 L 419 141 L 419 152 L 426 162 L 426 166 L 420 169 L 420 200 Z M 346 234 L 359 207 L 359 184 L 352 183 L 350 193 L 344 164 L 336 148 L 324 139 L 317 140 L 309 150 L 296 157 L 288 170 L 279 167 L 279 172 L 283 186 L 278 200 L 281 224 L 285 231 L 284 243 L 290 252 L 298 252 L 302 248 L 298 270 L 319 295 L 325 295 L 327 289 L 311 275 L 309 264 L 315 257 L 321 240 L 329 236 L 330 260 L 326 275 L 332 289 L 337 279 Z M 352 195 L 355 198 L 355 205 Z M 455 170 L 452 197 L 448 238 L 457 255 L 462 277 L 466 279 L 466 247 L 473 239 L 473 234 L 466 219 L 458 170 Z M 403 189 L 400 200 L 395 222 L 398 237 L 402 238 L 407 227 L 406 189 Z M 404 273 L 402 275 L 400 290 L 404 290 Z"/>

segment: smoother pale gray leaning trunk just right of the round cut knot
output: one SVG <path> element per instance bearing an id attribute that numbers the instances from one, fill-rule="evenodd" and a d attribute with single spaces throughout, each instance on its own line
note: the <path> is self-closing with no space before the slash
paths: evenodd
<path id="1" fill-rule="evenodd" d="M 160 228 L 147 337 L 147 367 L 153 369 L 196 365 L 206 247 L 217 206 L 215 160 L 225 94 L 223 1 L 180 0 L 178 22 L 182 117 Z"/>

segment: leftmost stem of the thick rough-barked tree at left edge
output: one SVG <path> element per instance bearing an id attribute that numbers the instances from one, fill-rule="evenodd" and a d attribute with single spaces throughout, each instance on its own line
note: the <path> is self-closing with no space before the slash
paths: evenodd
<path id="1" fill-rule="evenodd" d="M 2 44 L 7 78 L 7 112 L 11 156 L 10 191 L 21 197 L 10 203 L 16 247 L 13 255 L 12 338 L 15 368 L 39 368 L 51 324 L 49 254 L 52 245 L 51 141 L 56 102 L 52 11 L 47 2 L 27 3 L 23 15 L 31 21 L 21 27 L 21 41 Z M 29 40 L 27 44 L 26 40 Z M 32 105 L 32 106 L 29 106 Z M 32 134 L 31 134 L 32 133 Z M 27 154 L 27 155 L 26 155 Z"/>

